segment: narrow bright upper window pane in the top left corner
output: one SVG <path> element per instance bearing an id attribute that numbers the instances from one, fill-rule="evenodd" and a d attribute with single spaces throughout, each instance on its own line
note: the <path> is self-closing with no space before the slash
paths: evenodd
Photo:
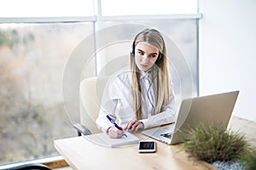
<path id="1" fill-rule="evenodd" d="M 2 18 L 77 17 L 93 14 L 93 0 L 8 0 L 1 2 L 0 10 Z"/>

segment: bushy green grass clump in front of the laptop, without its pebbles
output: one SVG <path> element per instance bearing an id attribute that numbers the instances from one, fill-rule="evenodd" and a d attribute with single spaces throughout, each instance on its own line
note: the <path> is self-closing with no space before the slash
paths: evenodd
<path id="1" fill-rule="evenodd" d="M 191 157 L 212 163 L 236 161 L 248 153 L 249 144 L 241 133 L 226 130 L 221 125 L 200 124 L 186 133 L 183 149 Z"/>

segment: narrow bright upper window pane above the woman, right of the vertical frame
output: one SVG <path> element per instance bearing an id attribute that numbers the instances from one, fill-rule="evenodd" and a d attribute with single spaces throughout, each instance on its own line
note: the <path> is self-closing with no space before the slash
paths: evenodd
<path id="1" fill-rule="evenodd" d="M 102 0 L 102 15 L 197 14 L 197 0 Z"/>

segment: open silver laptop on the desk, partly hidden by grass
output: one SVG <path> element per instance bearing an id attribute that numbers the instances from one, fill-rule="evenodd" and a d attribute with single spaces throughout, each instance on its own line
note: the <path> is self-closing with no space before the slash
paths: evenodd
<path id="1" fill-rule="evenodd" d="M 176 122 L 164 127 L 143 130 L 143 134 L 166 144 L 178 144 L 185 140 L 183 133 L 200 123 L 222 124 L 227 128 L 239 91 L 183 99 Z"/>

